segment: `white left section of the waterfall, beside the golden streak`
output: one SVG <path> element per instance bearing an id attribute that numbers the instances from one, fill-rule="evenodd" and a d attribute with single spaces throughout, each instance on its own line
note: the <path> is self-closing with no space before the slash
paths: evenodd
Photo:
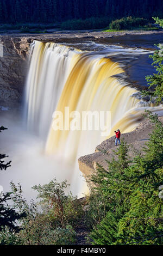
<path id="1" fill-rule="evenodd" d="M 46 137 L 62 88 L 78 54 L 68 47 L 34 41 L 26 87 L 25 112 L 29 129 Z"/>

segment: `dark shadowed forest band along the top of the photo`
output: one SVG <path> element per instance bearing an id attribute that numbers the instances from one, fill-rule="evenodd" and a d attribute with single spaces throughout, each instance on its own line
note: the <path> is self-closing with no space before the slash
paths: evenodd
<path id="1" fill-rule="evenodd" d="M 162 0 L 1 0 L 0 23 L 61 22 L 89 17 L 161 17 Z"/>

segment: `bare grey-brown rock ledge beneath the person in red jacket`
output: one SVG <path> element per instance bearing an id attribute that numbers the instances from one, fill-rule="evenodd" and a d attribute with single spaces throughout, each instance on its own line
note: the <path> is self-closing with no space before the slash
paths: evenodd
<path id="1" fill-rule="evenodd" d="M 163 124 L 163 117 L 160 117 Z M 149 139 L 149 134 L 153 130 L 153 124 L 149 120 L 143 120 L 142 123 L 133 131 L 123 133 L 123 138 L 128 144 L 130 144 L 129 156 L 132 158 L 135 151 L 141 151 L 142 147 Z M 96 164 L 100 164 L 104 169 L 108 169 L 108 163 L 106 160 L 111 160 L 114 155 L 113 150 L 117 151 L 118 146 L 115 146 L 115 137 L 106 139 L 100 145 L 96 147 L 95 153 L 82 156 L 79 158 L 79 169 L 83 173 L 84 177 L 95 173 Z M 115 156 L 115 155 L 114 155 Z"/>

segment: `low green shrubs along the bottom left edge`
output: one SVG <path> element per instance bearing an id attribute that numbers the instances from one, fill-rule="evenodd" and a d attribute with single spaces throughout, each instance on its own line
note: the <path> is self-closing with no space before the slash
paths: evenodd
<path id="1" fill-rule="evenodd" d="M 76 232 L 71 225 L 54 228 L 50 223 L 43 222 L 41 215 L 21 228 L 18 233 L 3 228 L 0 232 L 0 245 L 73 245 L 76 241 Z"/>

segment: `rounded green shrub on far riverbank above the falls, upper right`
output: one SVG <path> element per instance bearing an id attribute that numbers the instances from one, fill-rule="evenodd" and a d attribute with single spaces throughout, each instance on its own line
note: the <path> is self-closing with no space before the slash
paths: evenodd
<path id="1" fill-rule="evenodd" d="M 112 21 L 109 25 L 109 28 L 116 29 L 116 30 L 122 30 L 122 29 L 131 29 L 131 28 L 141 27 L 141 26 L 145 26 L 147 24 L 148 24 L 147 19 L 125 17 L 120 20 Z"/>

